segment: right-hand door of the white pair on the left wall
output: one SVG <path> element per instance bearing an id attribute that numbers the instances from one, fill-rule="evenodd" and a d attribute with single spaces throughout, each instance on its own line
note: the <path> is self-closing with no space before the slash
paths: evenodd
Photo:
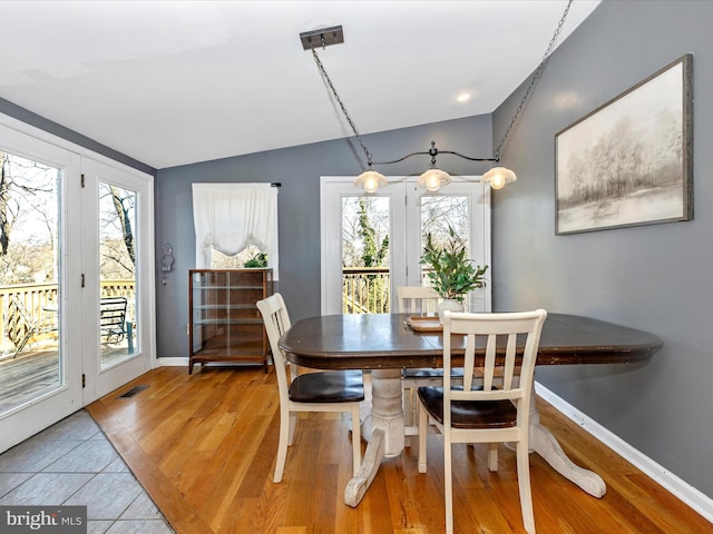
<path id="1" fill-rule="evenodd" d="M 152 367 L 154 199 L 150 177 L 123 167 L 82 158 L 82 176 L 88 404 Z"/>

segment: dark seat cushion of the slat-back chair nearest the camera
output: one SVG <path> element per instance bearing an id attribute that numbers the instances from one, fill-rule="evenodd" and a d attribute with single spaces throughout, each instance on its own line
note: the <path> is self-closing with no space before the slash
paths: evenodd
<path id="1" fill-rule="evenodd" d="M 419 387 L 419 398 L 428 414 L 442 425 L 443 388 Z M 508 428 L 517 422 L 517 409 L 509 400 L 452 400 L 450 421 L 453 428 Z"/>

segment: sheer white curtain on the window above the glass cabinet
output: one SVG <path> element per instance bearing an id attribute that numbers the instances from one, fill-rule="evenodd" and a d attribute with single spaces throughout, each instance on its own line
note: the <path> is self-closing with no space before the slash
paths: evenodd
<path id="1" fill-rule="evenodd" d="M 267 254 L 277 279 L 277 188 L 270 184 L 193 184 L 196 268 L 211 268 L 213 249 L 234 256 L 248 245 Z"/>

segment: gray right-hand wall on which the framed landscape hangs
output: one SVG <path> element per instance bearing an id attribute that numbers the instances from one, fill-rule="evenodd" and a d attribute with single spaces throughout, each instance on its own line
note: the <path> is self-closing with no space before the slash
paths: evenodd
<path id="1" fill-rule="evenodd" d="M 643 365 L 538 368 L 537 379 L 713 497 L 713 2 L 609 1 L 551 57 L 504 152 L 494 195 L 494 303 L 544 306 L 655 333 Z M 554 136 L 686 52 L 694 55 L 695 219 L 555 236 Z M 495 113 L 494 139 L 520 90 Z"/>

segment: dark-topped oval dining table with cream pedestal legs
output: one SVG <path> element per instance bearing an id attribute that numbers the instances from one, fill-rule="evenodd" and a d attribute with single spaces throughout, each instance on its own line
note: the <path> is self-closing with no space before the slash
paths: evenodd
<path id="1" fill-rule="evenodd" d="M 344 488 L 344 502 L 356 506 L 384 457 L 404 448 L 401 369 L 443 365 L 442 328 L 438 319 L 416 320 L 409 314 L 344 314 L 295 322 L 281 337 L 287 360 L 314 369 L 363 369 L 371 373 L 371 411 L 363 434 L 369 439 L 359 473 Z M 427 326 L 428 325 L 428 326 Z M 651 358 L 663 345 L 655 335 L 578 315 L 549 313 L 540 335 L 537 366 L 632 364 Z M 465 340 L 451 338 L 453 365 Z M 535 388 L 533 388 L 535 395 Z M 555 471 L 595 497 L 606 493 L 596 473 L 574 464 L 530 403 L 530 449 Z"/>

